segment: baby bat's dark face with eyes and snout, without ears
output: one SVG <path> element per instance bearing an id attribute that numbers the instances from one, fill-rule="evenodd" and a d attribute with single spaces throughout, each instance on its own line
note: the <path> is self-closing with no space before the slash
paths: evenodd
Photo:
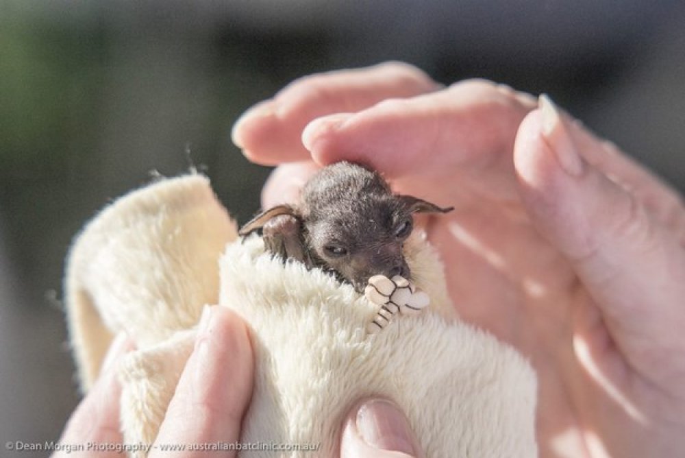
<path id="1" fill-rule="evenodd" d="M 340 205 L 306 224 L 316 258 L 358 292 L 374 275 L 410 278 L 403 245 L 414 227 L 411 212 L 394 196 L 371 201 Z"/>

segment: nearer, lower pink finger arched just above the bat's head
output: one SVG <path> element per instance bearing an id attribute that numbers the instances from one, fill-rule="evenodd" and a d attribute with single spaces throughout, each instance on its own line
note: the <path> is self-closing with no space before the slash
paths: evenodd
<path id="1" fill-rule="evenodd" d="M 534 106 L 529 96 L 506 86 L 470 80 L 316 119 L 302 138 L 320 164 L 362 162 L 391 178 L 493 164 L 510 171 L 516 128 Z"/>

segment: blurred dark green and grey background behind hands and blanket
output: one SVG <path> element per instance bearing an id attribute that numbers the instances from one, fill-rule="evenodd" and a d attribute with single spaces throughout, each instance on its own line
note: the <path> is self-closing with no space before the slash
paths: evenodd
<path id="1" fill-rule="evenodd" d="M 549 93 L 685 191 L 684 26 L 675 0 L 1 0 L 0 441 L 57 439 L 77 403 L 63 263 L 99 208 L 194 164 L 258 209 L 269 169 L 229 139 L 251 104 L 405 60 Z"/>

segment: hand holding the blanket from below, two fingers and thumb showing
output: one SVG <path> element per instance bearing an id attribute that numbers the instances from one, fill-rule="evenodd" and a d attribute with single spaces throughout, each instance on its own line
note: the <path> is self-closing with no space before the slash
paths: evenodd
<path id="1" fill-rule="evenodd" d="M 125 444 L 119 426 L 121 385 L 116 367 L 133 348 L 125 335 L 114 340 L 100 376 L 64 428 L 58 441 L 62 446 L 94 443 L 114 448 Z M 209 307 L 148 457 L 235 458 L 235 450 L 170 452 L 160 446 L 240 441 L 253 385 L 254 357 L 245 323 L 227 307 Z M 388 400 L 360 400 L 352 406 L 342 436 L 341 457 L 423 457 L 404 414 Z M 116 450 L 64 449 L 53 453 L 52 458 L 121 456 Z"/>

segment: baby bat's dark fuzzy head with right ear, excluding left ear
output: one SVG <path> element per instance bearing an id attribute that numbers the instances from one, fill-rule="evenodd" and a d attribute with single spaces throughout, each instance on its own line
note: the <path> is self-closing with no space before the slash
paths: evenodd
<path id="1" fill-rule="evenodd" d="M 364 291 L 374 275 L 410 278 L 403 245 L 414 213 L 446 213 L 430 202 L 395 195 L 375 171 L 348 162 L 323 169 L 303 189 L 305 240 L 313 258 Z"/>

